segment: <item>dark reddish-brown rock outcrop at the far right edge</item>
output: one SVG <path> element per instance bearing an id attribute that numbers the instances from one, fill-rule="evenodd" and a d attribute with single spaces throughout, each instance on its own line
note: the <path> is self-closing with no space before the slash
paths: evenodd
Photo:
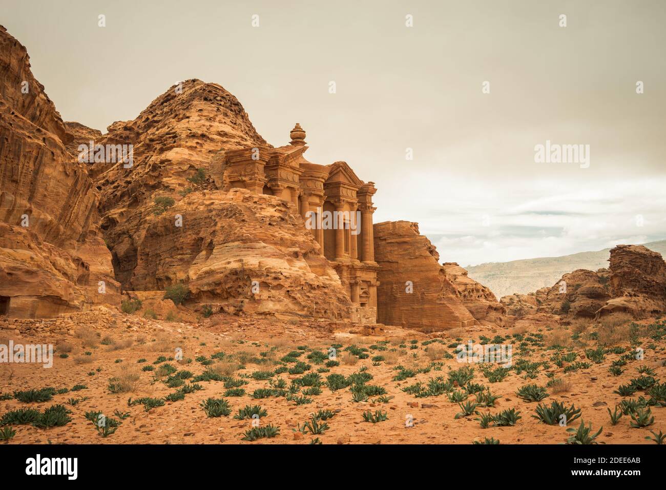
<path id="1" fill-rule="evenodd" d="M 643 245 L 617 245 L 609 262 L 613 297 L 599 316 L 623 312 L 642 318 L 666 311 L 666 263 L 661 254 Z"/>

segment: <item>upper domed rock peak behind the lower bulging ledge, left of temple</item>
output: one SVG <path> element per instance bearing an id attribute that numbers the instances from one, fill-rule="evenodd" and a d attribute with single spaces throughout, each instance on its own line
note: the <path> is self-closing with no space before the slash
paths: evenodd
<path id="1" fill-rule="evenodd" d="M 116 277 L 125 289 L 144 289 L 152 285 L 141 270 L 135 273 L 135 267 L 146 253 L 141 247 L 155 197 L 180 201 L 190 193 L 216 189 L 210 178 L 216 154 L 266 146 L 266 141 L 236 97 L 220 85 L 188 80 L 168 89 L 134 121 L 113 123 L 99 144 L 133 145 L 131 167 L 122 162 L 93 167 L 99 173 L 101 227 L 113 253 Z M 201 181 L 196 179 L 198 169 L 206 175 Z"/>

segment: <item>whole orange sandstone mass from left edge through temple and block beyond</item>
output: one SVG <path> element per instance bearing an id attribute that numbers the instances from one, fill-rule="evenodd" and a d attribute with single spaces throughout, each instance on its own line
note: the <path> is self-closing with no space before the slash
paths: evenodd
<path id="1" fill-rule="evenodd" d="M 306 160 L 300 125 L 273 147 L 236 97 L 197 79 L 105 134 L 63 123 L 25 48 L 0 34 L 1 313 L 118 307 L 122 287 L 153 309 L 143 313 L 169 315 L 162 291 L 182 283 L 188 311 L 503 325 L 492 293 L 440 265 L 416 223 L 373 227 L 374 183 L 344 161 Z M 406 281 L 414 293 L 401 293 Z"/>

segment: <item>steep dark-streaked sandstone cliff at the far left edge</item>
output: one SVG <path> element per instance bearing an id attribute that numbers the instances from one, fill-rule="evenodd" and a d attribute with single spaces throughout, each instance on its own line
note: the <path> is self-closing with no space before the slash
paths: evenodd
<path id="1" fill-rule="evenodd" d="M 97 230 L 97 191 L 67 151 L 73 135 L 31 74 L 25 47 L 3 27 L 0 67 L 3 313 L 49 317 L 117 303 L 111 254 Z"/>

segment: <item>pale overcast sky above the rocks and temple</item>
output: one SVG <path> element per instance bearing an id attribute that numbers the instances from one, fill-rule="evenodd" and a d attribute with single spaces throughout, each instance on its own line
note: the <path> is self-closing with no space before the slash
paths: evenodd
<path id="1" fill-rule="evenodd" d="M 65 121 L 219 83 L 273 145 L 299 122 L 310 161 L 374 181 L 375 221 L 417 221 L 442 261 L 666 238 L 665 1 L 2 3 Z M 536 163 L 547 140 L 589 166 Z"/>

